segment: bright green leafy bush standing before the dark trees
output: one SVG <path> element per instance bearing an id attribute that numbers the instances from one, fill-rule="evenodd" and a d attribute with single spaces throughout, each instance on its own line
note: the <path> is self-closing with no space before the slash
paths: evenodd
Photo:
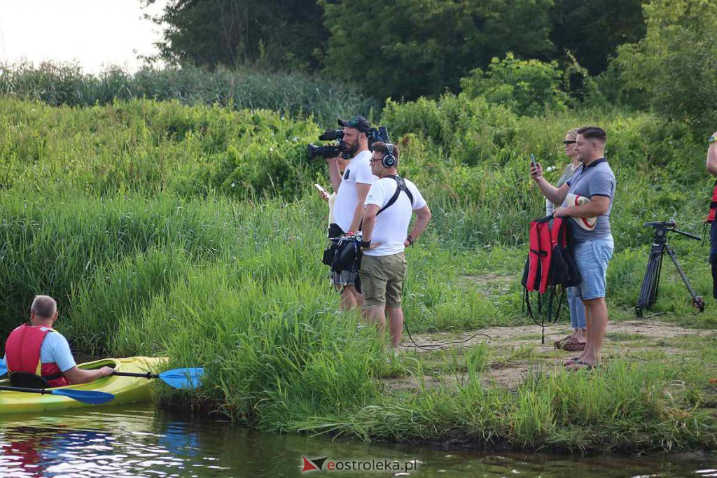
<path id="1" fill-rule="evenodd" d="M 563 72 L 557 62 L 493 58 L 484 72 L 477 68 L 460 80 L 462 94 L 510 107 L 519 115 L 538 115 L 548 110 L 564 110 L 568 96 L 559 88 Z"/>

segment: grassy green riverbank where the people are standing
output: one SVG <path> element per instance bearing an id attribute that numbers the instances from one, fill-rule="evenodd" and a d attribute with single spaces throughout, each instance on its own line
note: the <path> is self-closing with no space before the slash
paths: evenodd
<path id="1" fill-rule="evenodd" d="M 643 336 L 654 318 L 625 322 L 652 234 L 642 221 L 674 215 L 699 232 L 705 213 L 704 148 L 684 128 L 644 113 L 538 119 L 455 97 L 389 103 L 383 123 L 435 218 L 408 252 L 407 325 L 417 343 L 485 330 L 495 339 L 389 358 L 357 313 L 338 312 L 319 262 L 326 205 L 310 185 L 326 183 L 325 171 L 303 158 L 318 125 L 148 100 L 5 99 L 0 110 L 4 333 L 48 293 L 77 350 L 203 365 L 206 386 L 184 398 L 271 431 L 528 449 L 716 446 L 713 301 L 691 315 L 666 262 L 655 307 L 664 337 Z M 620 346 L 598 371 L 568 374 L 522 311 L 526 221 L 543 208 L 525 157 L 559 164 L 564 130 L 588 117 L 611 135 L 619 181 L 608 344 Z M 706 247 L 674 245 L 707 296 Z M 563 334 L 564 324 L 549 329 Z"/>

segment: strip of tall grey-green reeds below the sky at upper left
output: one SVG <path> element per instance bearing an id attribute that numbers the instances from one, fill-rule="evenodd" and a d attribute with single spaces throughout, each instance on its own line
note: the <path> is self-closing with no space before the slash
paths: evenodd
<path id="1" fill-rule="evenodd" d="M 364 97 L 355 87 L 323 77 L 249 68 L 208 72 L 191 65 L 163 70 L 143 67 L 136 73 L 110 67 L 92 75 L 71 63 L 0 64 L 0 94 L 80 107 L 142 98 L 176 100 L 185 105 L 274 110 L 295 118 L 313 115 L 331 127 L 340 115 L 368 115 L 376 106 L 376 100 Z"/>

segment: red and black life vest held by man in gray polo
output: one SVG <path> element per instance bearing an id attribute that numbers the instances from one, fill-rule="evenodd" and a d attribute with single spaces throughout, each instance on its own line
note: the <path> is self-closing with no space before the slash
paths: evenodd
<path id="1" fill-rule="evenodd" d="M 546 216 L 531 221 L 528 259 L 521 284 L 528 317 L 541 326 L 542 343 L 545 343 L 545 328 L 558 321 L 565 289 L 580 285 L 580 274 L 570 247 L 569 226 L 563 218 Z M 559 297 L 554 305 L 556 293 Z M 536 307 L 531 303 L 531 294 Z"/>

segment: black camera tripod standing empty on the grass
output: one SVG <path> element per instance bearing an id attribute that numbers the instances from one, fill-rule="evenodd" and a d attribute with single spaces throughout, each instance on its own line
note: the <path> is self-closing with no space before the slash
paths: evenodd
<path id="1" fill-rule="evenodd" d="M 649 309 L 650 305 L 655 303 L 657 300 L 657 288 L 660 287 L 660 269 L 663 267 L 663 255 L 667 252 L 673 264 L 677 267 L 677 272 L 682 277 L 683 282 L 687 286 L 687 290 L 690 291 L 692 296 L 692 305 L 696 307 L 700 312 L 705 310 L 705 302 L 702 297 L 695 294 L 695 290 L 690 285 L 690 281 L 685 275 L 680 262 L 677 260 L 677 254 L 670 244 L 668 244 L 668 231 L 676 232 L 690 239 L 701 241 L 700 236 L 690 234 L 688 232 L 679 231 L 675 229 L 674 221 L 661 221 L 661 222 L 646 222 L 643 224 L 647 227 L 655 228 L 655 239 L 650 247 L 650 258 L 647 259 L 647 270 L 645 270 L 645 278 L 642 279 L 642 288 L 640 289 L 640 297 L 637 299 L 637 305 L 635 305 L 635 313 L 637 317 L 642 317 L 642 309 Z"/>

